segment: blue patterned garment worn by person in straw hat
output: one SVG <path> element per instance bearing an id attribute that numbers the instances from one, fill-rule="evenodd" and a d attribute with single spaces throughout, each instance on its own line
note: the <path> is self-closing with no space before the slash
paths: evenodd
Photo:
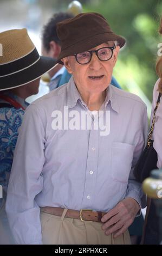
<path id="1" fill-rule="evenodd" d="M 16 102 L 20 103 L 23 108 L 27 108 L 29 103 L 17 95 L 9 92 L 3 93 Z M 0 103 L 8 103 L 0 98 Z M 7 193 L 12 160 L 17 142 L 18 133 L 22 124 L 24 110 L 15 107 L 0 108 L 0 185 L 3 187 L 3 198 L 0 198 L 0 220 L 3 239 L 0 236 L 0 244 L 14 244 L 14 239 L 8 224 L 5 212 L 5 193 Z"/>

